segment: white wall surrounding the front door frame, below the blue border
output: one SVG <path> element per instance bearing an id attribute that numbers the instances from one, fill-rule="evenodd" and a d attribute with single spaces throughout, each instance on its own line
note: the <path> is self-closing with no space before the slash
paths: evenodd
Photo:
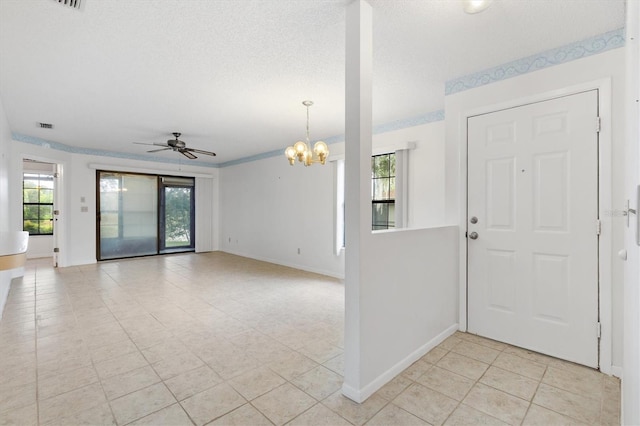
<path id="1" fill-rule="evenodd" d="M 624 206 L 624 134 L 625 134 L 625 73 L 624 73 L 624 49 L 613 49 L 607 52 L 589 56 L 583 59 L 567 62 L 565 64 L 546 68 L 540 71 L 510 78 L 494 84 L 481 86 L 472 90 L 447 96 L 445 99 L 446 114 L 446 215 L 447 218 L 461 224 L 461 233 L 464 232 L 464 204 L 466 191 L 465 170 L 465 117 L 466 114 L 480 108 L 509 102 L 515 99 L 536 96 L 542 93 L 558 91 L 567 87 L 586 84 L 605 78 L 611 78 L 612 84 L 612 108 L 611 114 L 607 113 L 609 121 L 603 122 L 603 131 L 610 132 L 611 138 L 611 165 L 613 166 L 612 184 L 610 187 L 600 188 L 601 194 L 612 199 L 612 213 L 601 217 L 603 220 L 603 235 L 601 238 L 610 238 L 612 250 L 603 253 L 608 256 L 612 265 L 611 277 L 611 306 L 608 311 L 612 314 L 612 332 L 608 337 L 611 342 L 612 365 L 622 365 L 622 330 L 623 330 L 623 297 L 622 297 L 622 262 L 616 253 L 623 247 L 624 220 L 615 214 Z M 603 113 L 601 111 L 601 113 Z M 606 113 L 606 112 L 605 112 Z M 605 160 L 606 159 L 601 159 Z M 461 237 L 462 241 L 462 237 Z M 464 263 L 462 260 L 461 263 Z M 461 274 L 462 274 L 461 267 Z M 463 278 L 464 279 L 464 278 Z M 464 302 L 464 300 L 462 300 Z M 610 366 L 601 365 L 603 369 L 611 369 Z"/>

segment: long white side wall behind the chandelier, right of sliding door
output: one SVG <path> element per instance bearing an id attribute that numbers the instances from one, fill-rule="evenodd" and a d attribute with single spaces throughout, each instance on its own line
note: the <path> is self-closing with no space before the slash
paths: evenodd
<path id="1" fill-rule="evenodd" d="M 292 167 L 284 154 L 221 169 L 220 249 L 341 277 L 344 256 L 334 254 L 333 173 L 331 163 Z"/>

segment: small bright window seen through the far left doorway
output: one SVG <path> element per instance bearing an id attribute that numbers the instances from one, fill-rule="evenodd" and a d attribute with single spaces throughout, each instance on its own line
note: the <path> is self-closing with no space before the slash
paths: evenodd
<path id="1" fill-rule="evenodd" d="M 53 175 L 24 173 L 22 229 L 29 235 L 53 235 Z"/>

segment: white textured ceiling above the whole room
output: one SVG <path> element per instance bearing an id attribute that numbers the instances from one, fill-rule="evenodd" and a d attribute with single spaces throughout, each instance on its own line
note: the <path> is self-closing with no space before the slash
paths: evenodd
<path id="1" fill-rule="evenodd" d="M 0 0 L 14 133 L 144 154 L 171 132 L 213 163 L 344 133 L 350 0 Z M 635 0 L 634 0 L 635 1 Z M 374 122 L 442 109 L 447 80 L 624 26 L 624 0 L 370 0 Z M 52 123 L 52 130 L 38 122 Z M 154 154 L 173 158 L 173 152 Z"/>

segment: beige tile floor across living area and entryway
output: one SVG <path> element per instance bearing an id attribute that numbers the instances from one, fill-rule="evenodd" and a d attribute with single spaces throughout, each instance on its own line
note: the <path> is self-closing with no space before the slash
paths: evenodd
<path id="1" fill-rule="evenodd" d="M 358 405 L 334 279 L 224 253 L 52 269 L 0 322 L 0 424 L 619 424 L 620 383 L 456 333 Z"/>

